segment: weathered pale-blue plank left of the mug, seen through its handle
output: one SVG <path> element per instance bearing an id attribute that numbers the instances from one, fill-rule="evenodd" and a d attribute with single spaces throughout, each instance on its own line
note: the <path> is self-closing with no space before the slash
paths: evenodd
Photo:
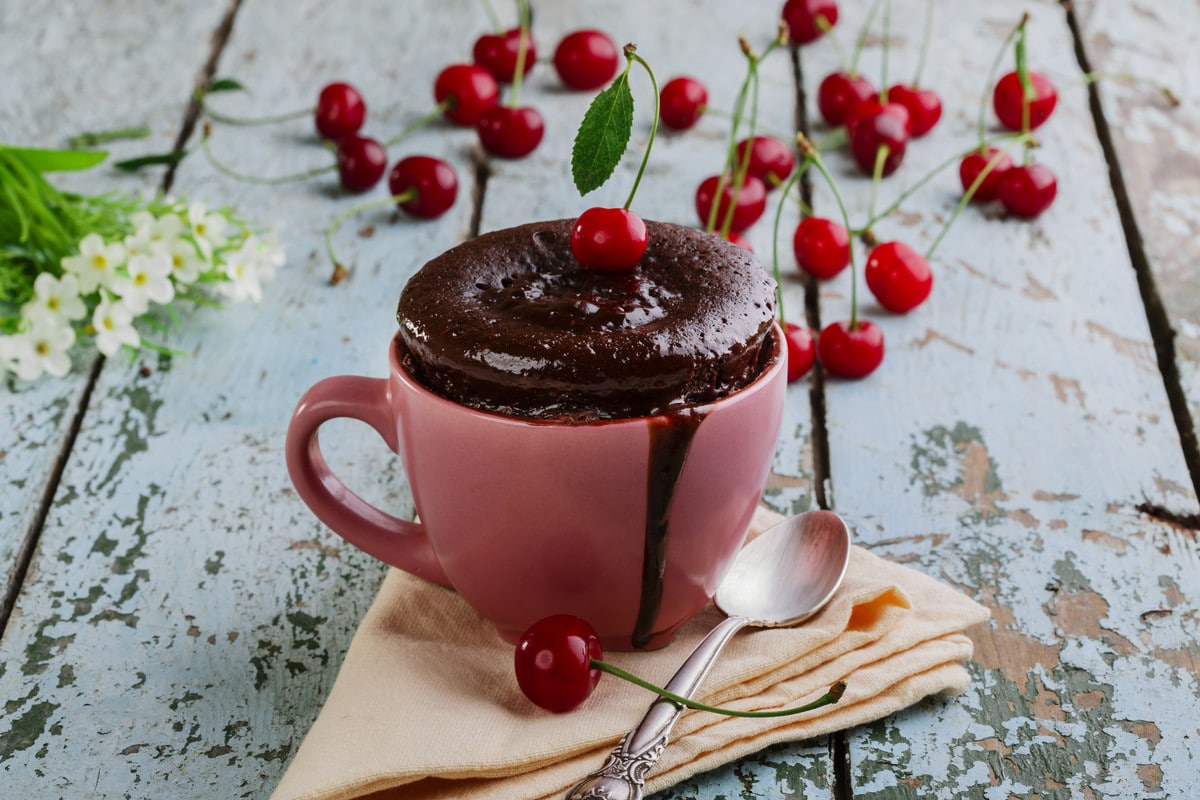
<path id="1" fill-rule="evenodd" d="M 485 24 L 478 4 L 444 11 L 245 2 L 220 71 L 252 94 L 222 97 L 222 108 L 302 108 L 344 78 L 371 104 L 368 131 L 391 136 L 432 107 L 440 66 L 468 54 L 469 42 L 461 54 L 446 48 L 463 20 Z M 161 22 L 145 37 L 173 29 Z M 186 101 L 190 83 L 178 91 Z M 460 200 L 433 223 L 380 211 L 348 224 L 338 247 L 353 273 L 337 288 L 326 284 L 324 230 L 362 198 L 342 197 L 332 180 L 264 187 L 197 156 L 181 164 L 178 194 L 280 223 L 289 263 L 260 306 L 185 314 L 169 343 L 187 356 L 106 368 L 0 652 L 11 664 L 0 676 L 10 793 L 263 796 L 274 786 L 383 575 L 294 497 L 284 428 L 319 378 L 384 373 L 404 276 L 467 230 L 472 140 L 438 126 L 394 151 L 451 160 Z M 329 163 L 304 121 L 220 127 L 214 149 L 256 174 Z M 325 440 L 352 485 L 410 512 L 401 480 L 382 473 L 392 459 L 374 434 L 347 423 Z"/>

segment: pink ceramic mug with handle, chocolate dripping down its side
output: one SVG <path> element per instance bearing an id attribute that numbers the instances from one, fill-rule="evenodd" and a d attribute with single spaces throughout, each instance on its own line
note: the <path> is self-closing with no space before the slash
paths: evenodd
<path id="1" fill-rule="evenodd" d="M 714 403 L 572 423 L 434 395 L 401 367 L 394 339 L 389 378 L 326 378 L 305 393 L 288 471 L 335 533 L 455 589 L 509 640 L 575 614 L 605 648 L 661 646 L 715 594 L 761 499 L 787 385 L 778 325 L 773 341 L 762 374 Z M 420 522 L 334 475 L 317 432 L 335 417 L 366 422 L 402 456 Z"/>

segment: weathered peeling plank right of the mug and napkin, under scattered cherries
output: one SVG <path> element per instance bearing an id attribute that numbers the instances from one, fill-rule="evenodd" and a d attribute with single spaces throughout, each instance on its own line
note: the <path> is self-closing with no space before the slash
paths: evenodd
<path id="1" fill-rule="evenodd" d="M 1036 156 L 1057 201 L 1034 222 L 964 215 L 928 305 L 894 317 L 864 295 L 883 367 L 828 384 L 836 507 L 874 549 L 994 613 L 964 697 L 856 732 L 854 796 L 1187 796 L 1196 778 L 1195 542 L 1136 511 L 1195 498 L 1086 95 L 1067 89 L 1079 67 L 1063 11 L 1026 5 L 1031 64 L 1064 86 Z M 938 6 L 926 83 L 947 116 L 881 204 L 971 145 L 994 46 L 1022 10 Z M 894 14 L 893 77 L 907 77 L 920 22 Z M 869 76 L 880 55 L 872 44 Z M 835 65 L 829 48 L 803 58 L 810 88 Z M 863 179 L 842 174 L 862 218 Z M 875 231 L 923 248 L 958 194 L 948 174 Z M 832 212 L 827 192 L 816 201 Z M 822 295 L 824 321 L 845 318 L 847 279 Z"/>

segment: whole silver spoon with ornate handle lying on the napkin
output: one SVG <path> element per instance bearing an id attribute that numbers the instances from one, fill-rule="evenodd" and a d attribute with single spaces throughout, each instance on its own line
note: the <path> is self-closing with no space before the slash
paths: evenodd
<path id="1" fill-rule="evenodd" d="M 743 547 L 716 590 L 728 616 L 683 662 L 666 688 L 691 699 L 716 656 L 743 627 L 787 627 L 833 597 L 850 564 L 850 528 L 832 511 L 809 511 L 762 531 Z M 617 744 L 604 766 L 576 783 L 568 800 L 636 800 L 683 706 L 659 698 Z"/>

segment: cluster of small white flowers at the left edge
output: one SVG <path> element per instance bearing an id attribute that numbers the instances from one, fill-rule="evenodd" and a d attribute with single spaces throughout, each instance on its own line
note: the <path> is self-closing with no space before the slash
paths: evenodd
<path id="1" fill-rule="evenodd" d="M 175 300 L 258 302 L 282 264 L 281 246 L 228 210 L 151 201 L 128 215 L 124 230 L 89 233 L 58 270 L 37 272 L 18 308 L 0 305 L 0 374 L 62 377 L 80 341 L 106 356 L 121 348 L 161 349 L 143 333 L 162 327 L 156 312 Z"/>

